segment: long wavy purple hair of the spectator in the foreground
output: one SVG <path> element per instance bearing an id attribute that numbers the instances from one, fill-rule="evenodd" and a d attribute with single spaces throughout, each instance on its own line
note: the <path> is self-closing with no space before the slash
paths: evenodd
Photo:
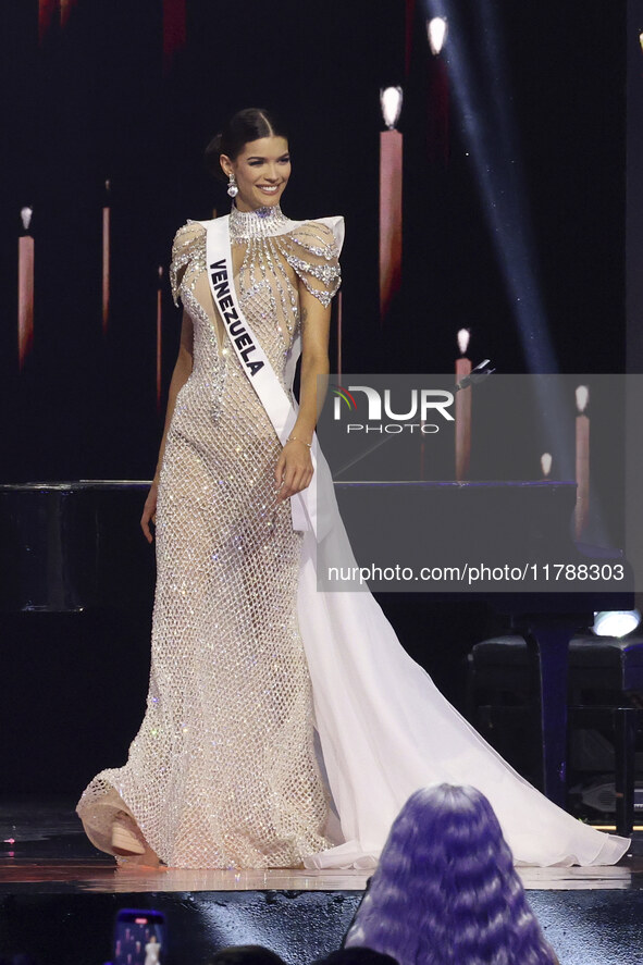
<path id="1" fill-rule="evenodd" d="M 346 948 L 399 965 L 555 965 L 494 811 L 475 788 L 411 794 L 396 817 Z"/>

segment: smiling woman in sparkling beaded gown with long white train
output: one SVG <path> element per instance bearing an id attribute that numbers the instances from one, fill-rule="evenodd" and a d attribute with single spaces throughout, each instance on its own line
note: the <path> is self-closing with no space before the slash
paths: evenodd
<path id="1" fill-rule="evenodd" d="M 78 803 L 87 834 L 141 864 L 372 867 L 409 794 L 447 781 L 491 800 L 519 862 L 614 863 L 628 842 L 576 821 L 517 775 L 408 657 L 369 593 L 317 590 L 318 558 L 346 559 L 346 534 L 335 512 L 316 544 L 293 528 L 288 497 L 312 477 L 343 223 L 285 218 L 287 149 L 255 110 L 212 147 L 238 186 L 230 236 L 240 309 L 290 397 L 301 336 L 297 421 L 282 446 L 215 309 L 206 228 L 188 222 L 172 258 L 181 349 L 141 520 L 151 540 L 156 511 L 147 710 L 125 766 L 101 771 Z M 321 454 L 317 477 L 327 481 Z"/>

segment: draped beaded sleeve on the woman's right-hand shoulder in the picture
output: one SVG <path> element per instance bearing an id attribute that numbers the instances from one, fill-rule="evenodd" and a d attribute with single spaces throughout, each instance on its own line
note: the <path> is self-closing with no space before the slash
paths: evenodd
<path id="1" fill-rule="evenodd" d="M 336 219 L 342 222 L 342 219 Z M 342 232 L 336 237 L 329 224 L 323 221 L 308 221 L 284 238 L 283 253 L 288 264 L 296 271 L 302 284 L 319 298 L 325 307 L 342 283 L 339 270 L 339 243 Z"/>

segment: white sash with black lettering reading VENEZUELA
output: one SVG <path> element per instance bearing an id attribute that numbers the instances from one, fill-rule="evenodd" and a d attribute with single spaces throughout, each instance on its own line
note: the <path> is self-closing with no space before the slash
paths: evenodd
<path id="1" fill-rule="evenodd" d="M 207 231 L 206 257 L 208 281 L 214 304 L 227 332 L 242 369 L 259 396 L 259 400 L 274 426 L 282 445 L 293 431 L 297 412 L 284 392 L 268 356 L 254 334 L 239 307 L 234 286 L 232 250 L 230 244 L 230 218 L 215 218 L 200 221 Z M 295 362 L 297 358 L 295 357 Z M 317 466 L 317 436 L 313 435 L 310 455 L 313 473 Z M 317 499 L 314 498 L 314 474 L 310 485 L 290 496 L 293 529 L 312 530 L 317 535 Z"/>

